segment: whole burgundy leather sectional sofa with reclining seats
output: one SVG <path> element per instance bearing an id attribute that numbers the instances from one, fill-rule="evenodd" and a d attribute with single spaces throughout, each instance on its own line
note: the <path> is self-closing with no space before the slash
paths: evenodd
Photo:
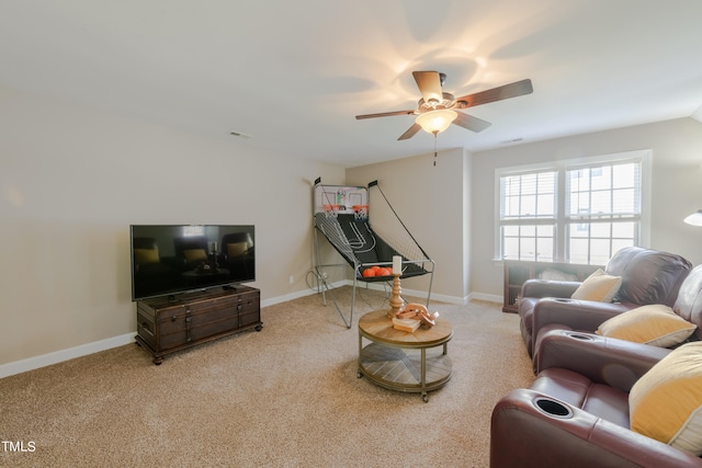
<path id="1" fill-rule="evenodd" d="M 607 270 L 623 277 L 618 303 L 522 296 L 536 379 L 495 407 L 490 467 L 702 467 L 694 454 L 630 429 L 632 387 L 672 350 L 593 333 L 623 311 L 665 304 L 697 324 L 689 340 L 702 340 L 702 265 L 690 271 L 679 255 L 634 248 L 618 252 Z M 566 298 L 577 287 L 531 283 L 524 293 Z"/>

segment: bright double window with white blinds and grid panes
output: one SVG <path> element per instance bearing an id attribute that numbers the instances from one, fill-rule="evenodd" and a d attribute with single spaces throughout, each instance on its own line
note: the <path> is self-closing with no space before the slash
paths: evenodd
<path id="1" fill-rule="evenodd" d="M 604 264 L 647 239 L 649 151 L 496 171 L 496 258 Z"/>

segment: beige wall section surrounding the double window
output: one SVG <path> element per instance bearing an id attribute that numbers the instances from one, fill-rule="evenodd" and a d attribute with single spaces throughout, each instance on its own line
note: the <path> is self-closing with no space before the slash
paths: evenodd
<path id="1" fill-rule="evenodd" d="M 702 228 L 682 222 L 702 208 L 702 124 L 680 118 L 475 152 L 471 292 L 502 296 L 502 264 L 492 261 L 496 168 L 637 149 L 653 150 L 652 232 L 646 247 L 679 253 L 693 265 L 702 263 Z"/>

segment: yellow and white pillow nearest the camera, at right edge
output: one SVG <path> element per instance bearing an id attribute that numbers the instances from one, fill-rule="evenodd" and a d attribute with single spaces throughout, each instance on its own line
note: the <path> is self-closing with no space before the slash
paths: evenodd
<path id="1" fill-rule="evenodd" d="M 631 429 L 702 455 L 702 342 L 673 350 L 629 393 Z"/>

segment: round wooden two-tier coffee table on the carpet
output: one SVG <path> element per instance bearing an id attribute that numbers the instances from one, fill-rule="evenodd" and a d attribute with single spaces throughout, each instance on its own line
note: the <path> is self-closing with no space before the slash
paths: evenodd
<path id="1" fill-rule="evenodd" d="M 414 333 L 395 330 L 388 309 L 369 312 L 359 319 L 359 373 L 381 387 L 427 395 L 451 379 L 448 343 L 453 336 L 451 322 L 442 317 L 432 328 L 418 328 Z M 363 340 L 370 344 L 363 346 Z M 432 352 L 432 349 L 442 350 Z"/>

